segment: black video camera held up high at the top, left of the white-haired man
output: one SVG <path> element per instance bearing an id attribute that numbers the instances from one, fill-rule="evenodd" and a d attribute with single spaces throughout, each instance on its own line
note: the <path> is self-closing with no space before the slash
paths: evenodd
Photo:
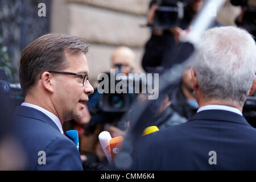
<path id="1" fill-rule="evenodd" d="M 158 9 L 155 11 L 154 28 L 167 30 L 177 27 L 184 18 L 184 10 L 187 3 L 192 0 L 162 0 L 157 1 Z"/>

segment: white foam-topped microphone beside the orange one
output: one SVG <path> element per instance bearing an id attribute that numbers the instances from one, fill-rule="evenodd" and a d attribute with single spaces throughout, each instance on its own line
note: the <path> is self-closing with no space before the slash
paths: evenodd
<path id="1" fill-rule="evenodd" d="M 108 131 L 102 131 L 98 135 L 98 140 L 100 140 L 101 147 L 104 151 L 104 154 L 106 155 L 106 158 L 108 159 L 108 162 L 112 164 L 112 157 L 111 157 L 111 151 L 110 151 L 110 139 L 112 139 L 110 133 Z"/>

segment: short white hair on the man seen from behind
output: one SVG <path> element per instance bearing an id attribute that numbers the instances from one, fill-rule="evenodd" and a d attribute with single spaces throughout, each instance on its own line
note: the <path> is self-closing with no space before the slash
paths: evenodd
<path id="1" fill-rule="evenodd" d="M 227 26 L 205 32 L 192 63 L 204 98 L 242 106 L 256 72 L 256 46 L 241 28 Z"/>

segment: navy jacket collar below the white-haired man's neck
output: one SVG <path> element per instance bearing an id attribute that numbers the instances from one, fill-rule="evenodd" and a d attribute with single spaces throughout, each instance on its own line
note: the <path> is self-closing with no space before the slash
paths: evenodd
<path id="1" fill-rule="evenodd" d="M 233 123 L 239 123 L 242 125 L 250 126 L 244 117 L 242 117 L 237 113 L 233 113 L 231 111 L 226 111 L 226 110 L 200 111 L 188 121 L 194 121 L 194 120 L 217 120 L 217 121 L 233 122 Z"/>

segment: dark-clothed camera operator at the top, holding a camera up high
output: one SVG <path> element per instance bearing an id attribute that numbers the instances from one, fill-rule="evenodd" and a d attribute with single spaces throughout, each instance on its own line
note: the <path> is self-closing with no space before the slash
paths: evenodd
<path id="1" fill-rule="evenodd" d="M 163 0 L 150 2 L 150 10 L 147 15 L 147 24 L 152 27 L 151 38 L 144 47 L 142 58 L 142 67 L 146 72 L 162 73 L 164 69 L 171 68 L 172 65 L 182 61 L 177 56 L 181 48 L 180 34 L 188 30 L 188 26 L 199 13 L 205 0 L 186 0 L 184 7 L 184 16 L 178 24 L 170 26 L 171 28 L 154 27 L 155 12 L 160 6 L 176 6 L 176 0 Z M 172 17 L 170 17 L 171 19 Z M 170 20 L 171 21 L 171 20 Z M 172 22 L 174 23 L 174 22 Z M 211 27 L 220 26 L 214 21 Z"/>

